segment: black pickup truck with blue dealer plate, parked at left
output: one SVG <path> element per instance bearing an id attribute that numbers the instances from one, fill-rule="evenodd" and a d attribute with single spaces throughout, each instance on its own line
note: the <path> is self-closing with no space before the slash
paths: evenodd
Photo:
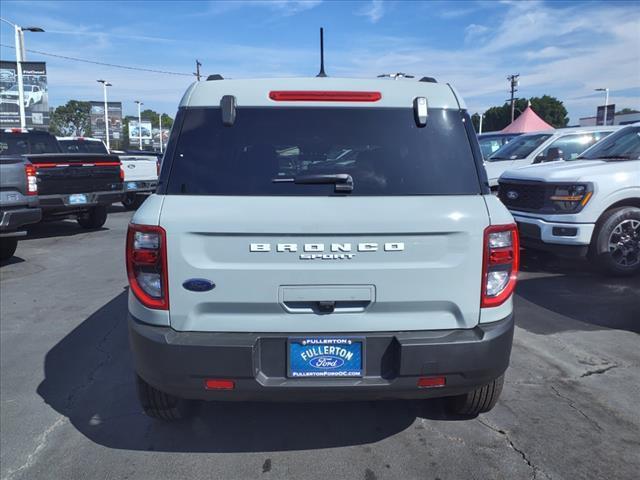
<path id="1" fill-rule="evenodd" d="M 56 137 L 41 130 L 0 132 L 0 155 L 28 160 L 35 167 L 45 219 L 75 217 L 83 228 L 99 228 L 107 207 L 122 201 L 124 174 L 115 155 L 63 153 Z"/>

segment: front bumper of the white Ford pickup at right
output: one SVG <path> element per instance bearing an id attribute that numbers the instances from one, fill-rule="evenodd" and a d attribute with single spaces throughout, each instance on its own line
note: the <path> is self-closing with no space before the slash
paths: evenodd
<path id="1" fill-rule="evenodd" d="M 523 247 L 566 256 L 586 255 L 595 228 L 593 223 L 549 222 L 511 213 Z"/>

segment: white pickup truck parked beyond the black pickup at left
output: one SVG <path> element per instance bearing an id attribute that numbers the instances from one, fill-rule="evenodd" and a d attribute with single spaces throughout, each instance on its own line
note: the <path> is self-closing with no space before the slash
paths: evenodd
<path id="1" fill-rule="evenodd" d="M 64 152 L 108 153 L 102 140 L 88 137 L 58 137 Z M 128 154 L 113 151 L 118 155 L 124 172 L 124 197 L 122 205 L 127 210 L 135 210 L 158 186 L 158 158 L 153 154 Z"/>

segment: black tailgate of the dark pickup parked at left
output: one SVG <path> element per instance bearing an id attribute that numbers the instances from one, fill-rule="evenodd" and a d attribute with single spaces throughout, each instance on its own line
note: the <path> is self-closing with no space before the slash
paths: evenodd
<path id="1" fill-rule="evenodd" d="M 122 190 L 120 159 L 116 155 L 26 155 L 38 177 L 38 194 L 61 195 Z"/>

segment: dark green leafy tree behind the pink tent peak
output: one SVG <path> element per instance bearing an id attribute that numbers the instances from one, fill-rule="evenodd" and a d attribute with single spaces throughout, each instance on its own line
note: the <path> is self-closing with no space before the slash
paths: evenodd
<path id="1" fill-rule="evenodd" d="M 531 102 L 531 108 L 545 122 L 555 128 L 566 127 L 569 123 L 567 117 L 567 109 L 563 103 L 555 97 L 543 95 L 542 97 L 531 97 L 529 100 L 519 98 L 515 101 L 515 118 L 527 108 L 528 102 Z M 478 121 L 480 118 L 478 117 Z M 483 132 L 494 132 L 502 130 L 511 123 L 511 104 L 506 102 L 500 107 L 491 107 L 484 112 L 484 120 L 482 122 Z M 477 125 L 474 121 L 474 127 Z"/>

